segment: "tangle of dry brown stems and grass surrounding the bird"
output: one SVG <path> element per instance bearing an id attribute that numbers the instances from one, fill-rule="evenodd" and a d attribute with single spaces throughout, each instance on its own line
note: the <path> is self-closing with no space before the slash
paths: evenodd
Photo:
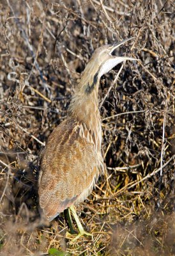
<path id="1" fill-rule="evenodd" d="M 0 5 L 0 254 L 175 255 L 173 1 Z M 130 36 L 139 61 L 100 83 L 105 173 L 77 207 L 93 238 L 73 243 L 43 218 L 36 159 L 94 49 Z"/>

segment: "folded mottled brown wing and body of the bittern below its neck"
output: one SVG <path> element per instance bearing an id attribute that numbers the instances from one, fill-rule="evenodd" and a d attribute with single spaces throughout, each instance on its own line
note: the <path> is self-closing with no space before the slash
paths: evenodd
<path id="1" fill-rule="evenodd" d="M 66 120 L 49 136 L 42 152 L 40 206 L 52 220 L 73 202 L 84 200 L 103 168 L 95 135 L 76 120 Z"/>

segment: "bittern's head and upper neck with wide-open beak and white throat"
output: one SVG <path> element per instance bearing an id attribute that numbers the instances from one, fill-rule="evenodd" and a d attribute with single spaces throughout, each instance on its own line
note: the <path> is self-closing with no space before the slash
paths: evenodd
<path id="1" fill-rule="evenodd" d="M 135 60 L 134 58 L 130 57 L 112 55 L 115 49 L 117 49 L 120 45 L 125 44 L 125 42 L 131 40 L 132 38 L 128 38 L 113 45 L 103 45 L 95 50 L 91 60 L 89 60 L 88 65 L 82 74 L 82 79 L 80 81 L 80 87 L 83 88 L 85 92 L 91 93 L 95 88 L 95 85 L 99 82 L 100 77 L 109 72 L 109 70 L 114 68 L 122 61 Z"/>

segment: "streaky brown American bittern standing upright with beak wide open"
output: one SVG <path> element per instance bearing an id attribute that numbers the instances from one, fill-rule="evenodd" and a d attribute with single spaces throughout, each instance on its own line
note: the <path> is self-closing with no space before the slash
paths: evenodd
<path id="1" fill-rule="evenodd" d="M 40 206 L 51 221 L 91 193 L 103 170 L 102 129 L 98 110 L 100 77 L 128 57 L 112 56 L 124 44 L 104 45 L 93 53 L 68 108 L 68 116 L 50 134 L 40 160 Z M 72 210 L 73 216 L 75 211 Z M 80 233 L 84 232 L 79 223 Z"/>

